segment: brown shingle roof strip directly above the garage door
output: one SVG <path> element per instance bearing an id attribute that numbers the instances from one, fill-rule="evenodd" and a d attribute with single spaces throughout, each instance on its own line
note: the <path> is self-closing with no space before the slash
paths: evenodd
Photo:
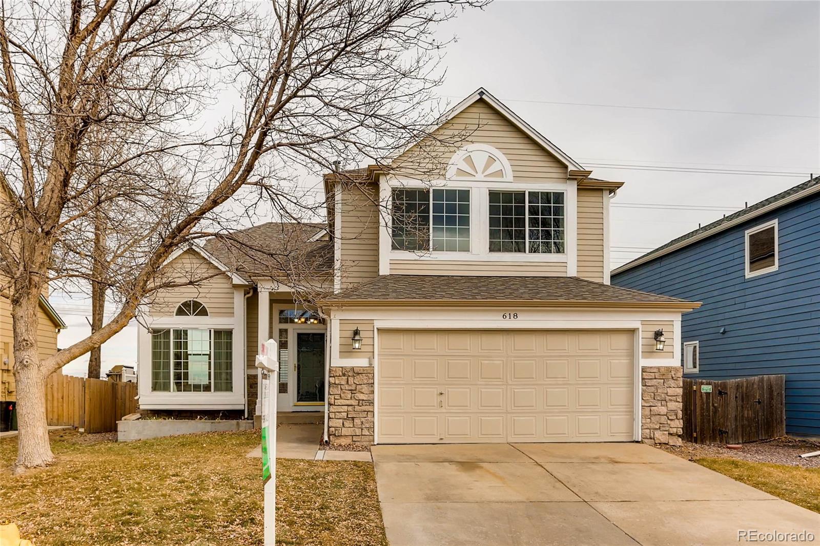
<path id="1" fill-rule="evenodd" d="M 471 275 L 380 275 L 326 300 L 688 303 L 578 277 Z"/>

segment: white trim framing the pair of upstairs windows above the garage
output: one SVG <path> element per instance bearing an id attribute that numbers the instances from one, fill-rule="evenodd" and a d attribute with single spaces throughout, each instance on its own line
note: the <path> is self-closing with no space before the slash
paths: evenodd
<path id="1" fill-rule="evenodd" d="M 567 275 L 574 257 L 576 198 L 567 184 L 560 182 L 516 183 L 503 180 L 435 180 L 430 184 L 408 178 L 389 177 L 382 186 L 385 210 L 392 211 L 393 189 L 468 189 L 470 190 L 470 252 L 425 251 L 394 249 L 392 221 L 382 225 L 380 238 L 380 275 L 389 273 L 389 260 L 455 260 L 464 262 L 560 262 L 567 263 Z M 490 253 L 490 191 L 541 191 L 564 193 L 564 253 Z M 430 193 L 430 221 L 432 222 L 432 193 Z M 527 214 L 529 216 L 529 214 Z M 479 219 L 474 221 L 474 219 Z M 389 220 L 392 220 L 389 219 Z M 432 230 L 431 230 L 432 231 Z M 430 234 L 432 237 L 432 233 Z M 383 263 L 384 262 L 384 263 Z M 382 272 L 384 271 L 384 272 Z"/>

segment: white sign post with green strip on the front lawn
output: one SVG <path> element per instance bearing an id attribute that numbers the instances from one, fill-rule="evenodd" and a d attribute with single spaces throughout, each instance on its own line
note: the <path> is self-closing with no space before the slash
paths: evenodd
<path id="1" fill-rule="evenodd" d="M 265 484 L 265 546 L 276 544 L 276 381 L 278 362 L 276 341 L 268 339 L 260 347 L 256 366 L 262 369 L 259 395 L 262 397 L 262 480 Z"/>

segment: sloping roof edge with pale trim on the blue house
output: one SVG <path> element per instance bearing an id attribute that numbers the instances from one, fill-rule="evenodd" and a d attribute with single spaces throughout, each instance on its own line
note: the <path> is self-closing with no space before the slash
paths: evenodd
<path id="1" fill-rule="evenodd" d="M 684 248 L 699 240 L 711 237 L 713 234 L 720 233 L 723 230 L 728 230 L 734 225 L 749 221 L 757 216 L 766 214 L 767 212 L 777 210 L 780 207 L 785 207 L 791 202 L 809 197 L 809 195 L 813 195 L 818 192 L 820 192 L 820 176 L 815 176 L 811 180 L 806 180 L 802 184 L 797 184 L 794 188 L 786 189 L 785 192 L 777 193 L 777 195 L 772 195 L 770 198 L 756 202 L 751 207 L 746 207 L 742 211 L 735 212 L 729 216 L 723 216 L 718 221 L 713 221 L 711 224 L 707 224 L 697 230 L 690 231 L 685 235 L 681 235 L 677 239 L 672 239 L 668 243 L 663 244 L 654 250 L 650 250 L 643 256 L 637 257 L 631 262 L 617 267 L 613 270 L 612 275 L 617 275 L 618 273 L 628 271 L 635 266 L 640 266 L 642 263 L 649 262 L 665 254 L 673 253 L 680 248 Z"/>

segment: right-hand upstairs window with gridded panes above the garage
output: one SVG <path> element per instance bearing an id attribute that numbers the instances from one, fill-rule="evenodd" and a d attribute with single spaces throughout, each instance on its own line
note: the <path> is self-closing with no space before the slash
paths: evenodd
<path id="1" fill-rule="evenodd" d="M 564 253 L 564 194 L 490 192 L 491 253 Z"/>

